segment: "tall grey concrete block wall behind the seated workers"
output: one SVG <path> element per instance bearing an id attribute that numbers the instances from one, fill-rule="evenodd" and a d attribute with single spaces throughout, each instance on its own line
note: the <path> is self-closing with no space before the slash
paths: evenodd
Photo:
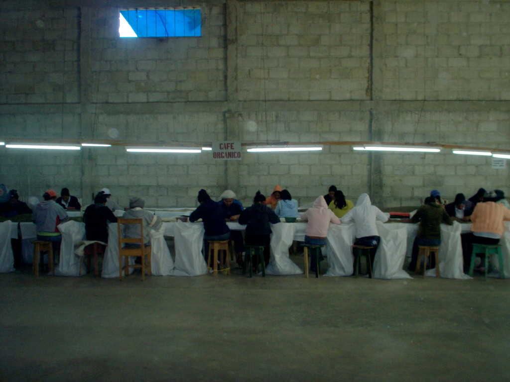
<path id="1" fill-rule="evenodd" d="M 202 37 L 120 39 L 117 7 L 199 6 Z M 0 141 L 385 141 L 510 151 L 510 3 L 501 1 L 27 1 L 0 5 Z M 80 152 L 0 147 L 21 198 L 109 187 L 127 205 L 196 205 L 232 188 L 249 204 L 287 187 L 301 204 L 336 184 L 355 201 L 417 205 L 480 186 L 510 193 L 490 157 Z"/>

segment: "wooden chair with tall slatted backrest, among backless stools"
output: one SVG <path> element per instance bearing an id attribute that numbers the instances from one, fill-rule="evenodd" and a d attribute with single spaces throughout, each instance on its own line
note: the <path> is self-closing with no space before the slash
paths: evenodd
<path id="1" fill-rule="evenodd" d="M 122 224 L 138 224 L 140 226 L 139 238 L 124 238 L 120 230 Z M 143 220 L 142 219 L 117 219 L 117 233 L 119 236 L 119 280 L 122 280 L 122 260 L 124 260 L 125 275 L 129 275 L 129 268 L 142 268 L 142 281 L 145 280 L 145 267 L 147 267 L 147 275 L 150 276 L 150 251 L 151 247 L 145 247 L 143 242 Z M 124 243 L 139 244 L 139 247 L 123 247 Z M 141 264 L 130 264 L 130 257 L 142 258 Z M 145 265 L 147 261 L 147 265 Z"/>

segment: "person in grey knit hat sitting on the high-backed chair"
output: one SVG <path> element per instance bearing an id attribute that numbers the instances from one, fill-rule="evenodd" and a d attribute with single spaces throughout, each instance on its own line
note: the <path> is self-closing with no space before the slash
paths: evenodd
<path id="1" fill-rule="evenodd" d="M 102 195 L 102 194 L 101 194 Z M 104 195 L 106 197 L 106 195 Z M 108 207 L 108 202 L 106 202 Z M 150 231 L 159 231 L 163 222 L 161 217 L 153 214 L 146 209 L 145 201 L 142 198 L 133 197 L 129 200 L 129 210 L 125 211 L 122 215 L 123 219 L 142 219 L 143 224 L 143 242 L 146 247 L 150 245 Z M 124 237 L 136 239 L 140 237 L 140 226 L 138 224 L 125 224 L 124 225 Z M 126 247 L 139 247 L 137 243 L 125 243 Z"/>

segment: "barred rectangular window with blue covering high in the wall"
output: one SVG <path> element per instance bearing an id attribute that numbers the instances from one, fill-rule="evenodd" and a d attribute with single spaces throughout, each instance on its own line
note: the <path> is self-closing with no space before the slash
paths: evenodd
<path id="1" fill-rule="evenodd" d="M 198 37 L 200 9 L 131 9 L 119 12 L 120 37 Z"/>

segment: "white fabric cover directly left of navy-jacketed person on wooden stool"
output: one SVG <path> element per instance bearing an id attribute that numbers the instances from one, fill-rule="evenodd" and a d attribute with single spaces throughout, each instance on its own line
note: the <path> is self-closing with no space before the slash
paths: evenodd
<path id="1" fill-rule="evenodd" d="M 207 274 L 206 260 L 202 256 L 203 224 L 173 224 L 175 238 L 175 268 L 172 276 L 200 276 Z"/>

